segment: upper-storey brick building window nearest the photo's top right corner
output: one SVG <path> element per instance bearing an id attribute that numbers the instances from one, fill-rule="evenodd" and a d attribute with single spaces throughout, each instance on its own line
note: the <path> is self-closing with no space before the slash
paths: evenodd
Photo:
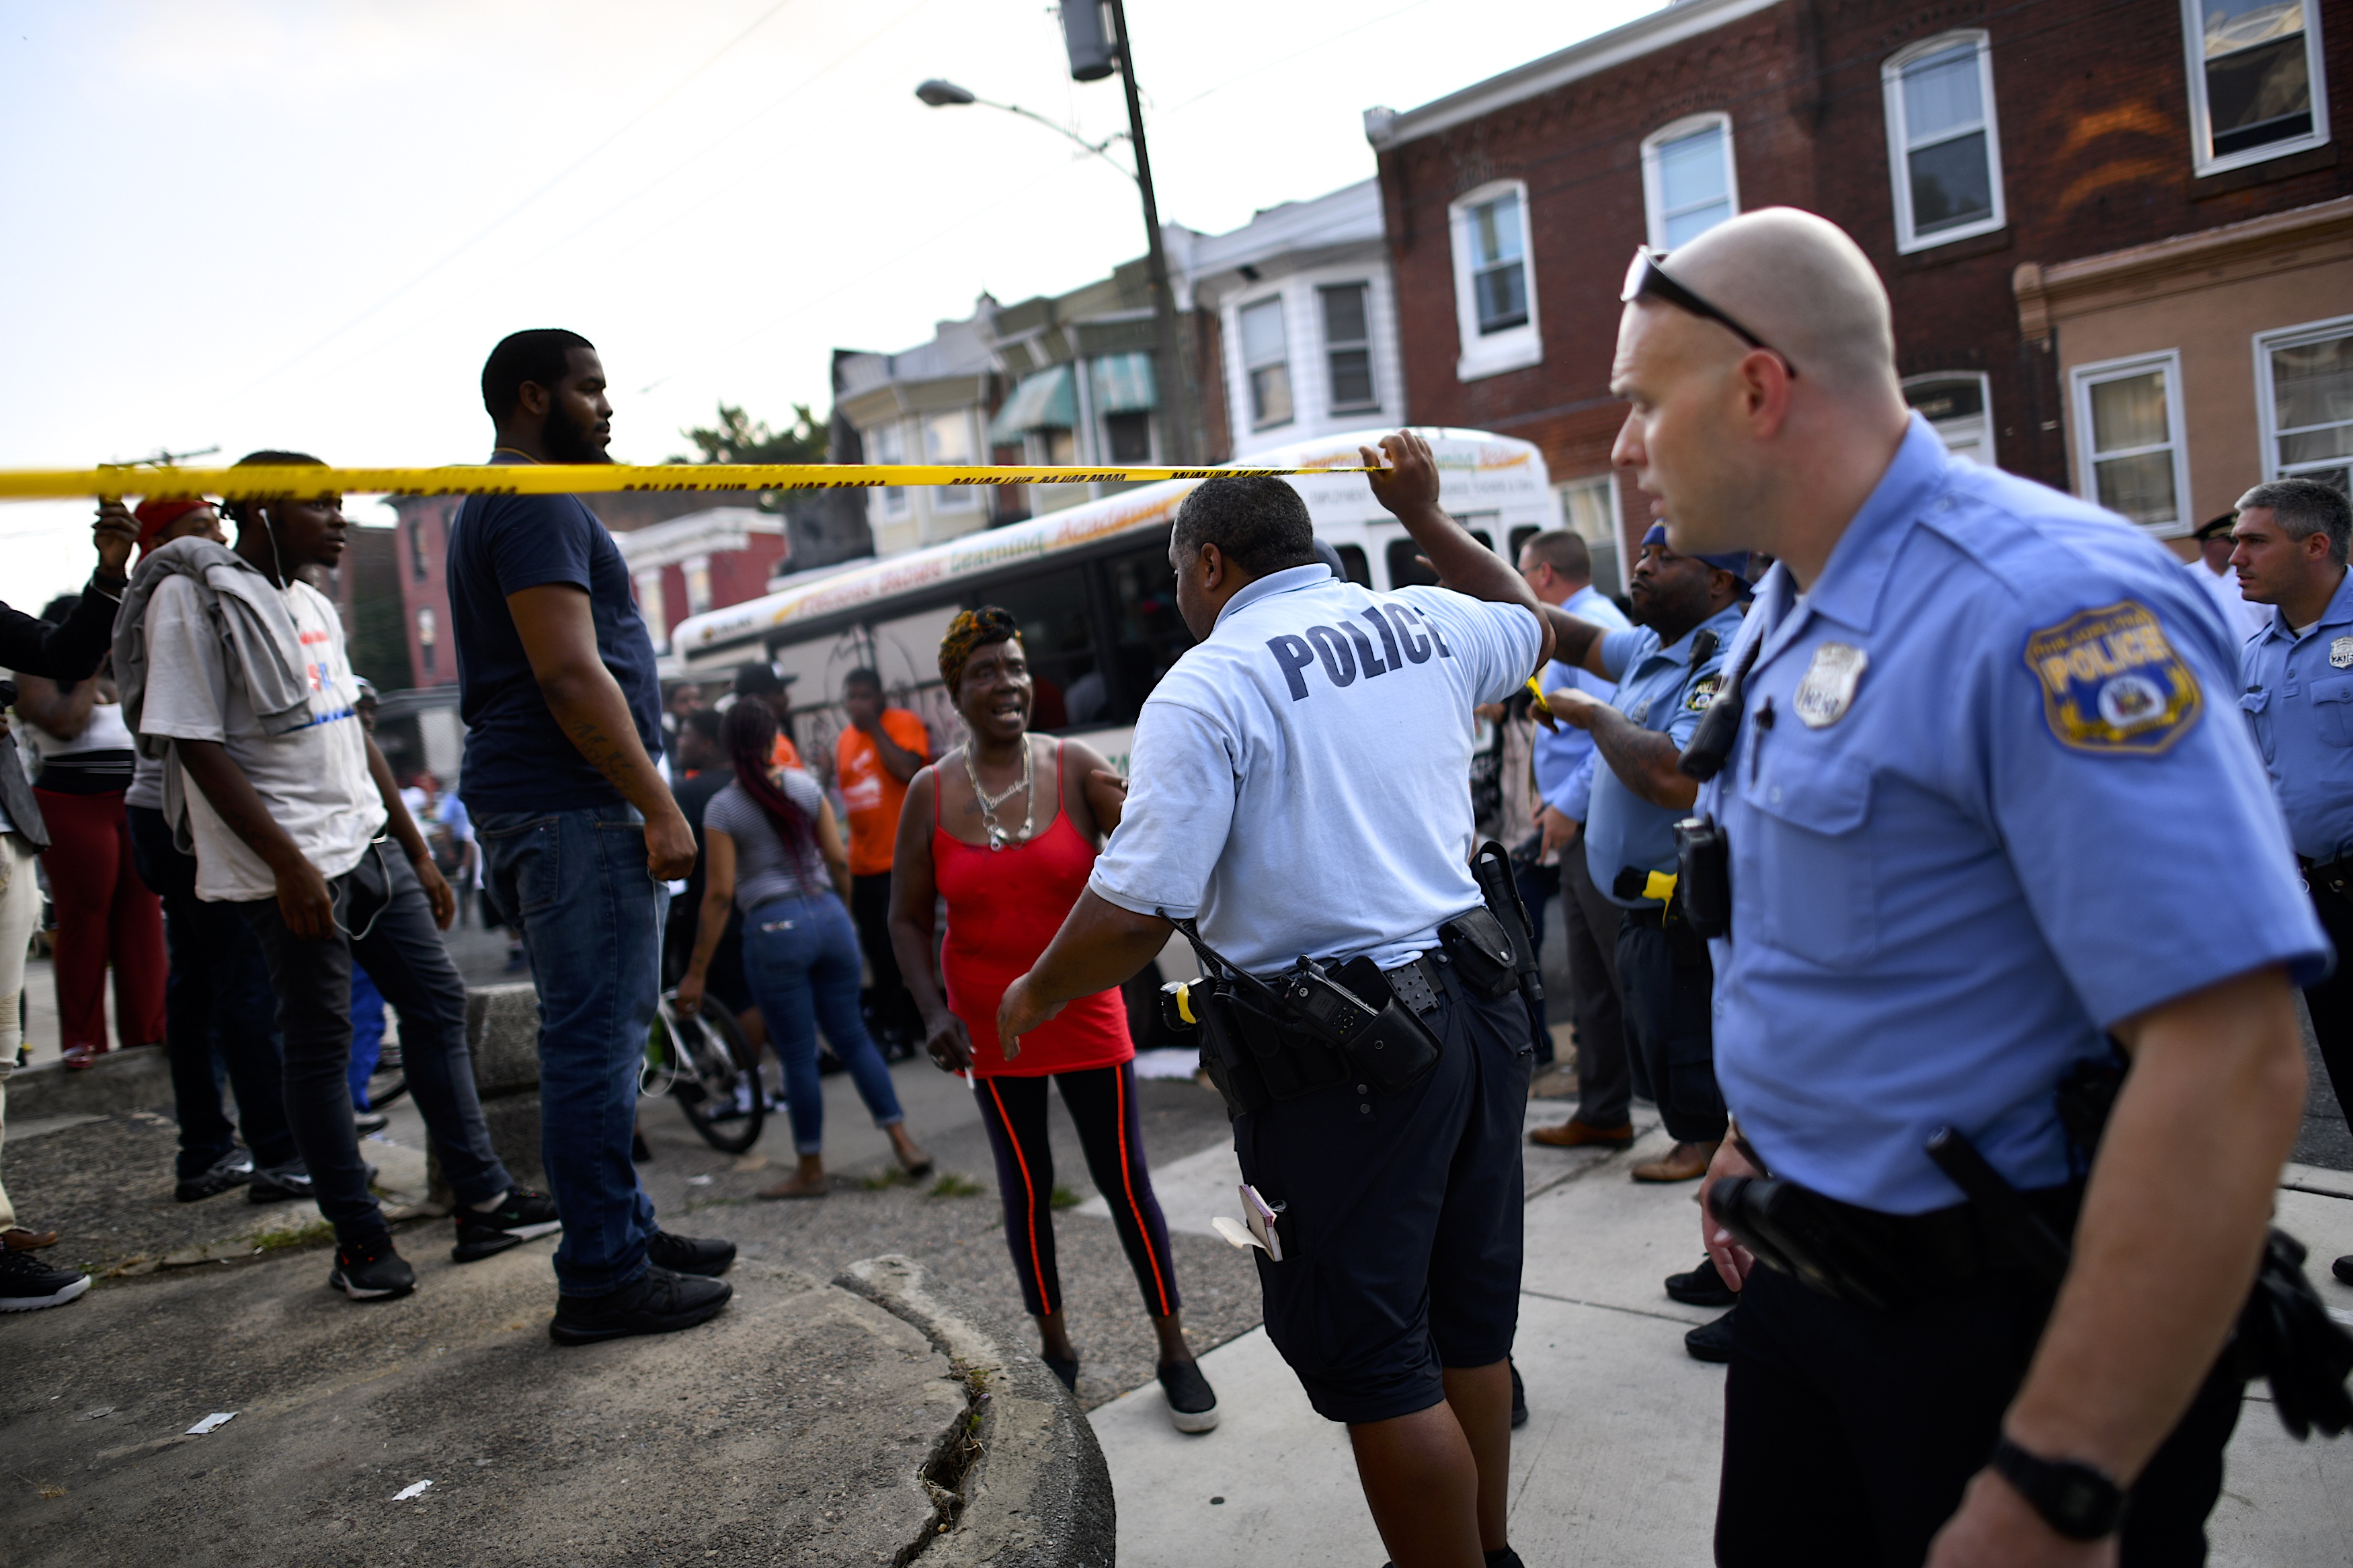
<path id="1" fill-rule="evenodd" d="M 2327 143 L 2320 0 L 2181 0 L 2181 33 L 2198 174 Z"/>

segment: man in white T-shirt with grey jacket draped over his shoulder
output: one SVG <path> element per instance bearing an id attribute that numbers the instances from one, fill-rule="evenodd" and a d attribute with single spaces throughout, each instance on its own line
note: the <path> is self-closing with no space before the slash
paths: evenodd
<path id="1" fill-rule="evenodd" d="M 308 468 L 256 451 L 238 463 Z M 407 1295 L 369 1194 L 351 1091 L 351 971 L 400 1011 L 409 1093 L 456 1194 L 456 1260 L 558 1227 L 489 1145 L 466 1056 L 466 983 L 440 929 L 456 905 L 360 726 L 334 604 L 301 581 L 344 555 L 341 496 L 240 501 L 238 543 L 179 538 L 141 562 L 115 623 L 122 708 L 165 762 L 165 816 L 195 846 L 195 896 L 238 905 L 261 938 L 285 1039 L 285 1110 L 308 1190 L 334 1225 L 327 1284 Z M 386 839 L 393 839 L 386 844 Z"/>

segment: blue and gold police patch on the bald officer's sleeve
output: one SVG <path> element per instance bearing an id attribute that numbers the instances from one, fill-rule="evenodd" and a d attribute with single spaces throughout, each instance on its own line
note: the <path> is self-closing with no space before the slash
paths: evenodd
<path id="1" fill-rule="evenodd" d="M 2155 757 L 2191 733 L 2205 696 L 2134 602 L 2068 616 L 2026 639 L 2026 668 L 2042 682 L 2042 722 L 2078 752 Z"/>

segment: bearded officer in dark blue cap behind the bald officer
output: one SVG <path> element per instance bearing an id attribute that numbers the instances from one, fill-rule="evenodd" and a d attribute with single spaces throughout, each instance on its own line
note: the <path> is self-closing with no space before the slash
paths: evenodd
<path id="1" fill-rule="evenodd" d="M 1638 1182 L 1701 1178 L 1725 1135 L 1708 947 L 1652 882 L 1675 870 L 1675 818 L 1697 795 L 1675 771 L 1675 757 L 1722 682 L 1725 651 L 1748 599 L 1746 564 L 1744 552 L 1678 555 L 1666 529 L 1652 524 L 1628 595 L 1640 625 L 1595 639 L 1584 658 L 1584 670 L 1617 682 L 1614 696 L 1602 703 L 1577 689 L 1546 693 L 1562 724 L 1593 736 L 1584 762 L 1586 870 L 1624 910 L 1617 969 L 1633 1079 L 1675 1138 L 1661 1159 L 1633 1168 Z"/>

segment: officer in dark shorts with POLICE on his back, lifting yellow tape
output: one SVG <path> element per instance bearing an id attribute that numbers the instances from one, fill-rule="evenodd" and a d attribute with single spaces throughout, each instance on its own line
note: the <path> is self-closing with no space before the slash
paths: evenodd
<path id="1" fill-rule="evenodd" d="M 1515 1566 L 1508 1354 L 1534 1044 L 1511 983 L 1478 983 L 1442 929 L 1480 912 L 1471 710 L 1541 668 L 1551 635 L 1527 583 L 1438 510 L 1428 447 L 1381 447 L 1381 505 L 1440 576 L 1499 602 L 1334 578 L 1280 480 L 1186 496 L 1169 564 L 1200 646 L 1144 703 L 1120 830 L 1005 992 L 998 1032 L 1129 978 L 1172 917 L 1249 976 L 1301 954 L 1384 971 L 1435 1060 L 1384 1086 L 1351 1058 L 1344 1079 L 1233 1119 L 1245 1180 L 1282 1208 L 1282 1258 L 1257 1253 L 1266 1333 L 1315 1410 L 1348 1422 L 1398 1568 Z"/>

